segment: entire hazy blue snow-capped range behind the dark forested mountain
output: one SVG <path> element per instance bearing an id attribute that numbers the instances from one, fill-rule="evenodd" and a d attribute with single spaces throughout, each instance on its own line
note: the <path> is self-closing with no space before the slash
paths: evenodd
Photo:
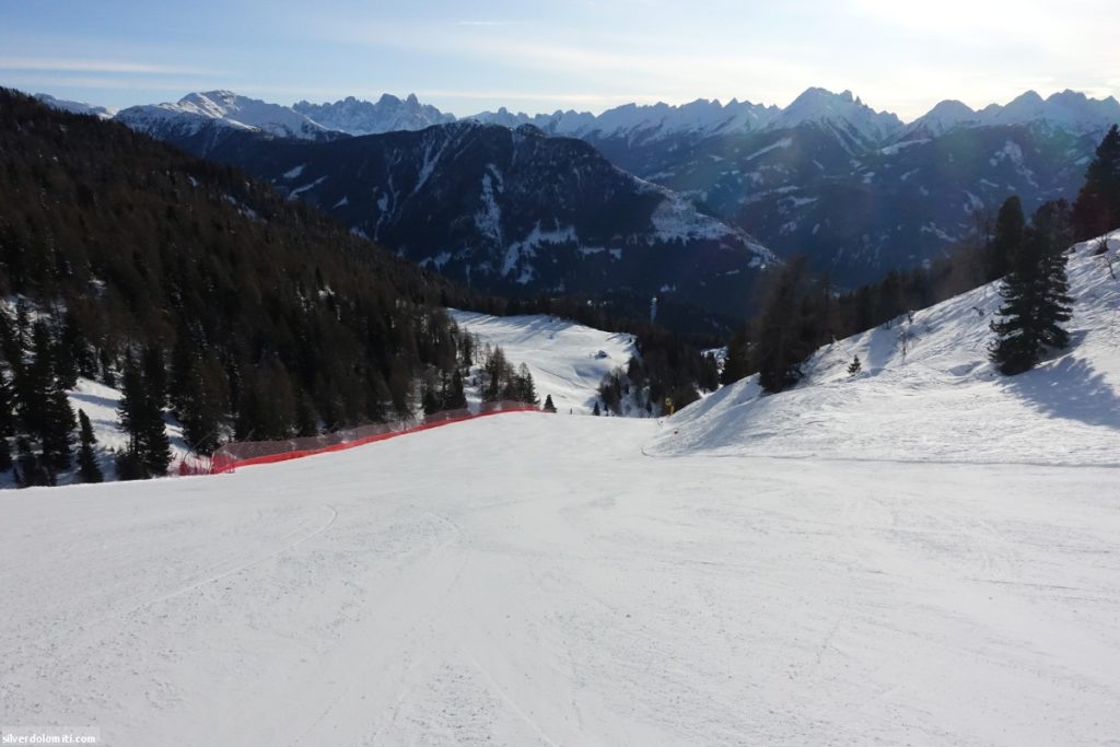
<path id="1" fill-rule="evenodd" d="M 203 156 L 233 131 L 330 140 L 455 122 L 414 95 L 286 108 L 227 91 L 116 118 Z M 1073 91 L 1046 99 L 1027 92 L 980 110 L 943 101 L 904 123 L 851 92 L 809 88 L 786 108 L 701 99 L 598 115 L 500 109 L 467 119 L 580 139 L 777 255 L 805 254 L 838 283 L 855 286 L 943 254 L 1011 194 L 1028 211 L 1072 198 L 1101 136 L 1120 121 L 1120 103 Z"/>

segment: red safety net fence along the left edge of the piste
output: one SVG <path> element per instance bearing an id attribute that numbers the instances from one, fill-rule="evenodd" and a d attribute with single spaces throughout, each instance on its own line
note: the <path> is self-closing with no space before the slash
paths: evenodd
<path id="1" fill-rule="evenodd" d="M 485 418 L 502 412 L 540 412 L 524 402 L 484 402 L 478 412 L 469 410 L 447 410 L 424 415 L 419 419 L 402 420 L 388 423 L 362 426 L 351 430 L 310 436 L 307 438 L 290 438 L 283 441 L 231 441 L 214 452 L 209 464 L 198 459 L 185 459 L 179 465 L 180 475 L 221 474 L 248 467 L 250 465 L 273 464 L 299 459 L 316 454 L 342 451 L 364 446 L 374 441 L 383 441 L 404 433 L 414 433 L 430 428 L 438 428 L 454 422 Z"/>

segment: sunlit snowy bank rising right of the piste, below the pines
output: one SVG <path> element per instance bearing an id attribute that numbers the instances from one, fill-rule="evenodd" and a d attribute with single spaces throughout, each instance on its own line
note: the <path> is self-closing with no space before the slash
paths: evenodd
<path id="1" fill-rule="evenodd" d="M 750 376 L 682 410 L 657 456 L 1120 465 L 1120 231 L 1070 258 L 1072 345 L 1018 376 L 987 357 L 998 283 L 819 349 L 797 387 Z M 862 371 L 849 376 L 858 355 Z"/>

